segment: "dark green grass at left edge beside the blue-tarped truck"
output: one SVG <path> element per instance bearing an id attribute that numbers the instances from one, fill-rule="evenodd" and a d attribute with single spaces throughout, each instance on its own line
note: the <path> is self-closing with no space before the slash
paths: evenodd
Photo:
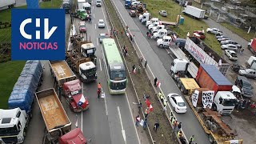
<path id="1" fill-rule="evenodd" d="M 8 108 L 8 98 L 24 65 L 24 61 L 0 63 L 0 75 L 2 77 L 0 78 L 0 109 Z"/>

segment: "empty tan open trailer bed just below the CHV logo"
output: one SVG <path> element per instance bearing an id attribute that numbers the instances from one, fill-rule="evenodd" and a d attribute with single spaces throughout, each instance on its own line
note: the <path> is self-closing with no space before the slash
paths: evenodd
<path id="1" fill-rule="evenodd" d="M 49 66 L 50 72 L 59 87 L 62 87 L 65 82 L 76 79 L 74 72 L 70 69 L 66 61 L 49 61 Z"/>

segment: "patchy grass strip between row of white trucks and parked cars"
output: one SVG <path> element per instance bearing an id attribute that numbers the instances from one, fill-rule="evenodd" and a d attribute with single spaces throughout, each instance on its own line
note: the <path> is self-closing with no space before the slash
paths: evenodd
<path id="1" fill-rule="evenodd" d="M 150 12 L 151 17 L 160 18 L 163 21 L 176 22 L 181 8 L 176 2 L 170 0 L 142 1 L 146 3 L 146 9 Z M 167 17 L 165 18 L 160 16 L 158 14 L 159 10 L 166 10 L 168 13 Z M 190 33 L 190 35 L 192 35 L 194 30 L 204 29 L 206 31 L 206 29 L 208 28 L 206 22 L 190 18 L 184 14 L 182 14 L 182 17 L 185 20 L 183 25 L 179 25 L 178 28 L 171 27 L 172 30 L 178 33 L 180 38 L 186 38 L 186 34 L 188 32 Z M 214 38 L 214 34 L 206 33 L 206 39 L 202 41 L 205 42 L 206 45 L 210 46 L 217 54 L 222 54 L 221 47 L 216 38 Z"/>

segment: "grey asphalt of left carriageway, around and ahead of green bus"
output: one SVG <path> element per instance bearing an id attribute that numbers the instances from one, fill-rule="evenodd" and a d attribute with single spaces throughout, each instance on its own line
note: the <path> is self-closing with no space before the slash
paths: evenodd
<path id="1" fill-rule="evenodd" d="M 98 80 L 83 85 L 83 94 L 89 98 L 90 108 L 78 116 L 78 118 L 81 118 L 78 123 L 82 126 L 83 134 L 92 138 L 93 143 L 139 143 L 126 94 L 111 95 L 107 88 L 106 73 L 102 61 L 102 46 L 98 41 L 98 35 L 107 33 L 107 28 L 110 28 L 110 26 L 98 29 L 97 25 L 98 19 L 104 19 L 106 22 L 104 6 L 96 7 L 95 3 L 92 2 L 92 15 L 92 23 L 86 22 L 86 28 L 88 40 L 90 39 L 97 48 Z M 78 29 L 79 20 L 76 19 L 74 22 Z M 107 23 L 107 25 L 109 24 Z M 98 82 L 102 83 L 106 99 L 97 98 Z M 124 130 L 124 133 L 122 133 L 122 130 Z"/>

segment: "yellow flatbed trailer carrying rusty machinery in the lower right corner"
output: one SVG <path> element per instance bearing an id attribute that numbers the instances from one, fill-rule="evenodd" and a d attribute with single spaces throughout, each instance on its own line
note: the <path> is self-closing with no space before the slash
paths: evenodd
<path id="1" fill-rule="evenodd" d="M 191 110 L 193 111 L 196 118 L 198 118 L 198 122 L 200 122 L 203 130 L 205 130 L 206 134 L 209 136 L 209 140 L 211 143 L 214 144 L 230 144 L 234 141 L 238 142 L 239 144 L 242 144 L 242 139 L 235 140 L 235 135 L 232 133 L 230 128 L 226 126 L 224 122 L 220 119 L 220 115 L 217 111 L 212 111 L 210 109 L 205 109 L 202 112 L 202 109 L 194 108 L 190 96 L 185 96 L 186 102 L 189 103 Z M 210 130 L 209 126 L 209 120 L 214 119 L 215 126 L 218 123 L 220 127 L 222 127 L 221 132 L 213 132 L 213 130 Z M 206 122 L 209 121 L 209 122 Z M 207 128 L 207 126 L 209 128 Z"/>

